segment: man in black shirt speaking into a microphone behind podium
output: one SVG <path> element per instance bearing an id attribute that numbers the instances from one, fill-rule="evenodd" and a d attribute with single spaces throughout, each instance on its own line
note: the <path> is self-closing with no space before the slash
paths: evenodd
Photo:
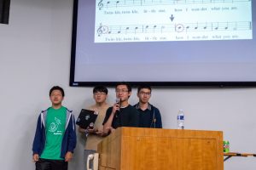
<path id="1" fill-rule="evenodd" d="M 106 113 L 103 122 L 103 131 L 106 134 L 117 127 L 139 127 L 139 113 L 128 102 L 131 96 L 131 86 L 121 82 L 116 86 L 115 92 L 119 101 L 109 107 Z"/>

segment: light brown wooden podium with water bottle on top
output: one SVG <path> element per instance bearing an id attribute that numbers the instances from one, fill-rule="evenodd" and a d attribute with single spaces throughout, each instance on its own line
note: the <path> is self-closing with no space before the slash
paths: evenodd
<path id="1" fill-rule="evenodd" d="M 100 170 L 224 170 L 220 131 L 119 127 L 97 151 Z"/>

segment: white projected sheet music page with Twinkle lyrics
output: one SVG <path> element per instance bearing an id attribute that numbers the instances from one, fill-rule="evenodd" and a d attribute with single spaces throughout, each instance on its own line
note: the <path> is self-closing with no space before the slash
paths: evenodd
<path id="1" fill-rule="evenodd" d="M 95 23 L 95 42 L 253 38 L 247 0 L 97 0 Z"/>

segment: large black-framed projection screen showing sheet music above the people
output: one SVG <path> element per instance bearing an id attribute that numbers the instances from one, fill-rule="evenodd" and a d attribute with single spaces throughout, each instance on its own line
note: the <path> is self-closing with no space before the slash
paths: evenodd
<path id="1" fill-rule="evenodd" d="M 75 0 L 70 85 L 256 85 L 256 2 Z"/>

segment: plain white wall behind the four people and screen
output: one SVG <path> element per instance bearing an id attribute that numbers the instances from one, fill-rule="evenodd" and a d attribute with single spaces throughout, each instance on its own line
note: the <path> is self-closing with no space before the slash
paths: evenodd
<path id="1" fill-rule="evenodd" d="M 39 111 L 50 105 L 49 88 L 66 91 L 64 105 L 76 116 L 91 105 L 91 88 L 68 86 L 72 0 L 12 0 L 9 26 L 0 25 L 0 160 L 1 169 L 34 169 L 32 139 Z M 108 101 L 114 100 L 110 88 Z M 135 104 L 135 90 L 131 104 Z M 157 88 L 151 102 L 160 108 L 163 125 L 176 127 L 178 109 L 185 127 L 224 131 L 230 149 L 256 153 L 256 88 Z M 78 135 L 70 169 L 83 169 L 84 139 Z M 206 149 L 207 150 L 207 149 Z M 226 170 L 253 170 L 255 157 L 235 157 Z"/>

